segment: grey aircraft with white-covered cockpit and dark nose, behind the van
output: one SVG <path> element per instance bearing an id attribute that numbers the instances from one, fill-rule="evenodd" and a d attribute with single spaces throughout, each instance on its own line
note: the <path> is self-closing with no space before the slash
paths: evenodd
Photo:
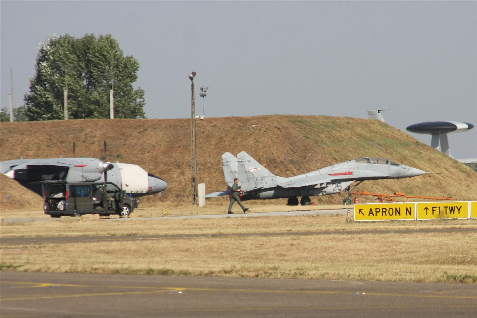
<path id="1" fill-rule="evenodd" d="M 19 159 L 0 162 L 0 173 L 42 195 L 41 185 L 32 182 L 109 181 L 122 185 L 132 196 L 152 195 L 167 188 L 166 182 L 135 164 L 109 163 L 95 158 Z"/>

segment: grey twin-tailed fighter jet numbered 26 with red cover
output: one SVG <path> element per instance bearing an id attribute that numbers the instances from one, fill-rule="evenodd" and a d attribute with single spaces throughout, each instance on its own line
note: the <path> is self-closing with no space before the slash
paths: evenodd
<path id="1" fill-rule="evenodd" d="M 243 193 L 241 200 L 288 198 L 288 205 L 309 205 L 310 196 L 332 195 L 342 192 L 354 182 L 377 179 L 411 178 L 427 172 L 396 164 L 389 159 L 364 157 L 333 164 L 306 174 L 283 178 L 272 174 L 245 151 L 235 157 L 222 154 L 225 182 L 228 188 L 238 178 Z M 206 197 L 227 195 L 227 191 L 215 192 Z"/>

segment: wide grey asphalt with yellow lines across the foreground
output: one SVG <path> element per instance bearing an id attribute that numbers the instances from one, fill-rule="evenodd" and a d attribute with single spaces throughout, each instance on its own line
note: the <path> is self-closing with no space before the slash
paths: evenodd
<path id="1" fill-rule="evenodd" d="M 0 317 L 477 317 L 474 284 L 1 272 Z"/>

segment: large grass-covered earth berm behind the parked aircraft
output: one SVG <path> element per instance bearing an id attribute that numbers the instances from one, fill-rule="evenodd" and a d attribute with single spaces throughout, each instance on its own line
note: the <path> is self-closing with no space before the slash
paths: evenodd
<path id="1" fill-rule="evenodd" d="M 98 119 L 0 123 L 0 161 L 75 156 L 139 164 L 168 183 L 164 195 L 144 206 L 190 201 L 190 119 Z M 104 141 L 107 152 L 104 158 Z M 221 154 L 246 151 L 272 173 L 302 174 L 358 157 L 384 157 L 428 172 L 410 179 L 366 181 L 355 190 L 384 194 L 452 196 L 476 200 L 477 174 L 411 135 L 386 123 L 352 117 L 268 115 L 197 121 L 197 181 L 206 192 L 226 189 Z M 0 176 L 0 210 L 24 209 L 41 199 Z M 7 200 L 8 194 L 10 200 Z M 344 194 L 312 197 L 316 204 L 340 204 Z M 373 202 L 361 196 L 360 202 Z M 35 201 L 36 200 L 36 201 Z M 401 201 L 405 201 L 402 199 Z M 284 203 L 262 200 L 260 204 Z M 227 205 L 227 198 L 207 204 Z"/>

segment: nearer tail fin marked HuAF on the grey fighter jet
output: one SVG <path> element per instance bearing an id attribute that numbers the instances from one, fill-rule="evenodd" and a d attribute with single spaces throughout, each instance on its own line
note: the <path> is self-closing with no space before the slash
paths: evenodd
<path id="1" fill-rule="evenodd" d="M 272 174 L 245 151 L 237 155 L 240 188 L 249 191 L 255 188 L 270 188 L 277 185 L 277 179 L 284 179 Z"/>

